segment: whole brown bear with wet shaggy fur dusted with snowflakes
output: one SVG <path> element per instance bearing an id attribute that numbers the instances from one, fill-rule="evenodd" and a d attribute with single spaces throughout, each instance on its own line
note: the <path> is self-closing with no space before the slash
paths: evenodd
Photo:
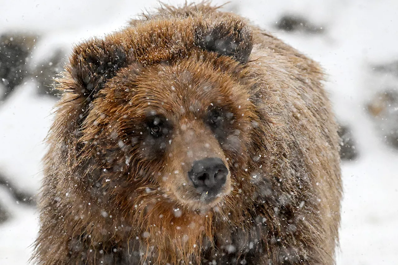
<path id="1" fill-rule="evenodd" d="M 76 46 L 35 261 L 334 264 L 339 139 L 323 77 L 207 2 Z"/>

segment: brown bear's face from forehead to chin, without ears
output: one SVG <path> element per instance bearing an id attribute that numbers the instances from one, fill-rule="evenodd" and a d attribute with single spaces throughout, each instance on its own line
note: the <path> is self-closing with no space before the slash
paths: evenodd
<path id="1" fill-rule="evenodd" d="M 195 210 L 219 203 L 230 193 L 233 164 L 245 152 L 254 114 L 246 89 L 215 68 L 215 60 L 191 55 L 121 69 L 92 101 L 82 131 L 85 150 L 95 150 L 90 156 L 107 170 L 123 158 L 120 168 L 130 167 L 139 187 L 160 188 L 175 203 Z M 190 177 L 194 164 L 206 158 L 225 167 L 220 183 L 217 172 L 211 172 L 216 180 L 203 180 L 213 181 L 210 186 Z"/>

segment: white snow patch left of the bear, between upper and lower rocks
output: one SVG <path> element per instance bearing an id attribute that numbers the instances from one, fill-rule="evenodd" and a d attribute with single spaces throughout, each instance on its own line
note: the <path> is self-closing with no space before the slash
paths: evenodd
<path id="1" fill-rule="evenodd" d="M 44 138 L 54 101 L 35 93 L 29 81 L 0 105 L 0 170 L 31 193 L 40 187 Z"/>

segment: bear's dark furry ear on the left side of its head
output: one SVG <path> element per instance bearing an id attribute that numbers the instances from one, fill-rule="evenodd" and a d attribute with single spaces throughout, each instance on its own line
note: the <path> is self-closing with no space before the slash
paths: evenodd
<path id="1" fill-rule="evenodd" d="M 128 65 L 127 52 L 117 37 L 94 39 L 75 47 L 68 72 L 73 92 L 80 97 L 94 96 L 103 84 Z"/>

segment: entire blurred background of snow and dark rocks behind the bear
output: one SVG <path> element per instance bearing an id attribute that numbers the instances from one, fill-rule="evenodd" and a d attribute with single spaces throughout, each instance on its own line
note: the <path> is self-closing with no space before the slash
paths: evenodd
<path id="1" fill-rule="evenodd" d="M 58 99 L 53 76 L 74 44 L 159 6 L 154 0 L 0 0 L 1 265 L 29 264 L 43 139 Z M 397 264 L 398 1 L 232 0 L 224 10 L 322 64 L 341 125 L 338 265 Z"/>

